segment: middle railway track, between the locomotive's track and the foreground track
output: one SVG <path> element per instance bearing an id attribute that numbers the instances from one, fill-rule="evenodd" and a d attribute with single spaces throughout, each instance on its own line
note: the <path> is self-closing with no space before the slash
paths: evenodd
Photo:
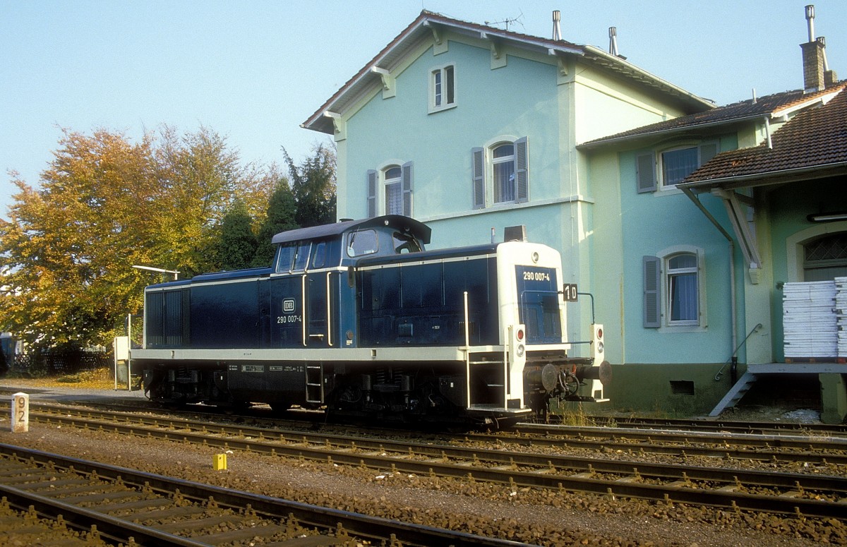
<path id="1" fill-rule="evenodd" d="M 554 450 L 507 450 L 500 436 L 486 436 L 489 448 L 480 446 L 413 443 L 408 440 L 366 439 L 361 436 L 325 432 L 285 431 L 244 425 L 213 424 L 165 417 L 82 411 L 59 407 L 59 412 L 42 412 L 30 407 L 38 422 L 102 430 L 115 434 L 169 439 L 244 450 L 288 458 L 325 461 L 390 472 L 438 475 L 468 480 L 590 492 L 599 495 L 670 501 L 732 510 L 766 511 L 804 517 L 847 518 L 847 478 L 818 473 L 743 470 L 676 463 L 609 458 L 608 443 L 601 457 L 569 456 L 572 441 L 551 445 Z M 114 413 L 112 413 L 114 414 Z M 656 434 L 654 432 L 654 434 Z M 745 435 L 750 437 L 750 435 Z M 523 445 L 536 445 L 540 438 L 517 436 Z M 470 439 L 468 439 L 470 441 Z M 821 460 L 843 456 L 844 439 L 833 441 Z M 639 445 L 628 445 L 637 453 Z M 685 450 L 690 450 L 688 447 Z M 717 449 L 712 449 L 713 451 Z M 719 451 L 718 451 L 719 452 Z M 840 454 L 839 454 L 840 453 Z M 811 459 L 810 454 L 802 457 Z M 746 455 L 745 457 L 749 457 Z M 828 465 L 828 464 L 826 464 Z"/>

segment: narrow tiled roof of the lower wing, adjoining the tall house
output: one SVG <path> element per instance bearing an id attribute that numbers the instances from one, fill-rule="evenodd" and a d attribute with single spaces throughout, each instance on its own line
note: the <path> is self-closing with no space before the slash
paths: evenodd
<path id="1" fill-rule="evenodd" d="M 803 90 L 782 91 L 765 97 L 734 102 L 733 104 L 712 108 L 705 112 L 667 119 L 656 124 L 643 125 L 633 130 L 617 133 L 616 135 L 609 135 L 595 139 L 594 141 L 584 142 L 579 146 L 595 146 L 611 141 L 623 141 L 634 137 L 654 135 L 667 131 L 696 129 L 707 125 L 728 124 L 745 119 L 761 118 L 794 105 L 817 101 L 819 97 L 832 93 L 832 91 L 831 88 L 807 94 L 804 94 Z"/>

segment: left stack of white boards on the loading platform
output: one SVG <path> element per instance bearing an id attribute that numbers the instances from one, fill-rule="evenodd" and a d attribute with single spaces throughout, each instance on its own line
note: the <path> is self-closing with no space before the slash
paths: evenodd
<path id="1" fill-rule="evenodd" d="M 835 293 L 834 281 L 783 285 L 783 340 L 787 359 L 839 356 Z M 847 292 L 844 294 L 847 297 Z"/>

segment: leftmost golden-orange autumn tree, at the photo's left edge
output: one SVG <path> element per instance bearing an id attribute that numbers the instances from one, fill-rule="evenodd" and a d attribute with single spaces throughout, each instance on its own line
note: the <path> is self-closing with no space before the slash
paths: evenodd
<path id="1" fill-rule="evenodd" d="M 156 195 L 152 142 L 66 130 L 59 144 L 40 190 L 13 180 L 19 193 L 0 222 L 0 321 L 32 345 L 104 344 L 141 305 L 131 264 L 145 258 Z"/>

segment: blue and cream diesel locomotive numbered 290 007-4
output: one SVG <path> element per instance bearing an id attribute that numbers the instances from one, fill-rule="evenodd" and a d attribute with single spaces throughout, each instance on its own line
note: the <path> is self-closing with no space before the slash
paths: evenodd
<path id="1" fill-rule="evenodd" d="M 523 227 L 425 251 L 430 231 L 399 215 L 294 229 L 270 268 L 148 286 L 132 369 L 164 404 L 383 421 L 514 422 L 551 397 L 603 399 L 601 325 L 590 356 L 567 355 L 558 251 Z"/>

